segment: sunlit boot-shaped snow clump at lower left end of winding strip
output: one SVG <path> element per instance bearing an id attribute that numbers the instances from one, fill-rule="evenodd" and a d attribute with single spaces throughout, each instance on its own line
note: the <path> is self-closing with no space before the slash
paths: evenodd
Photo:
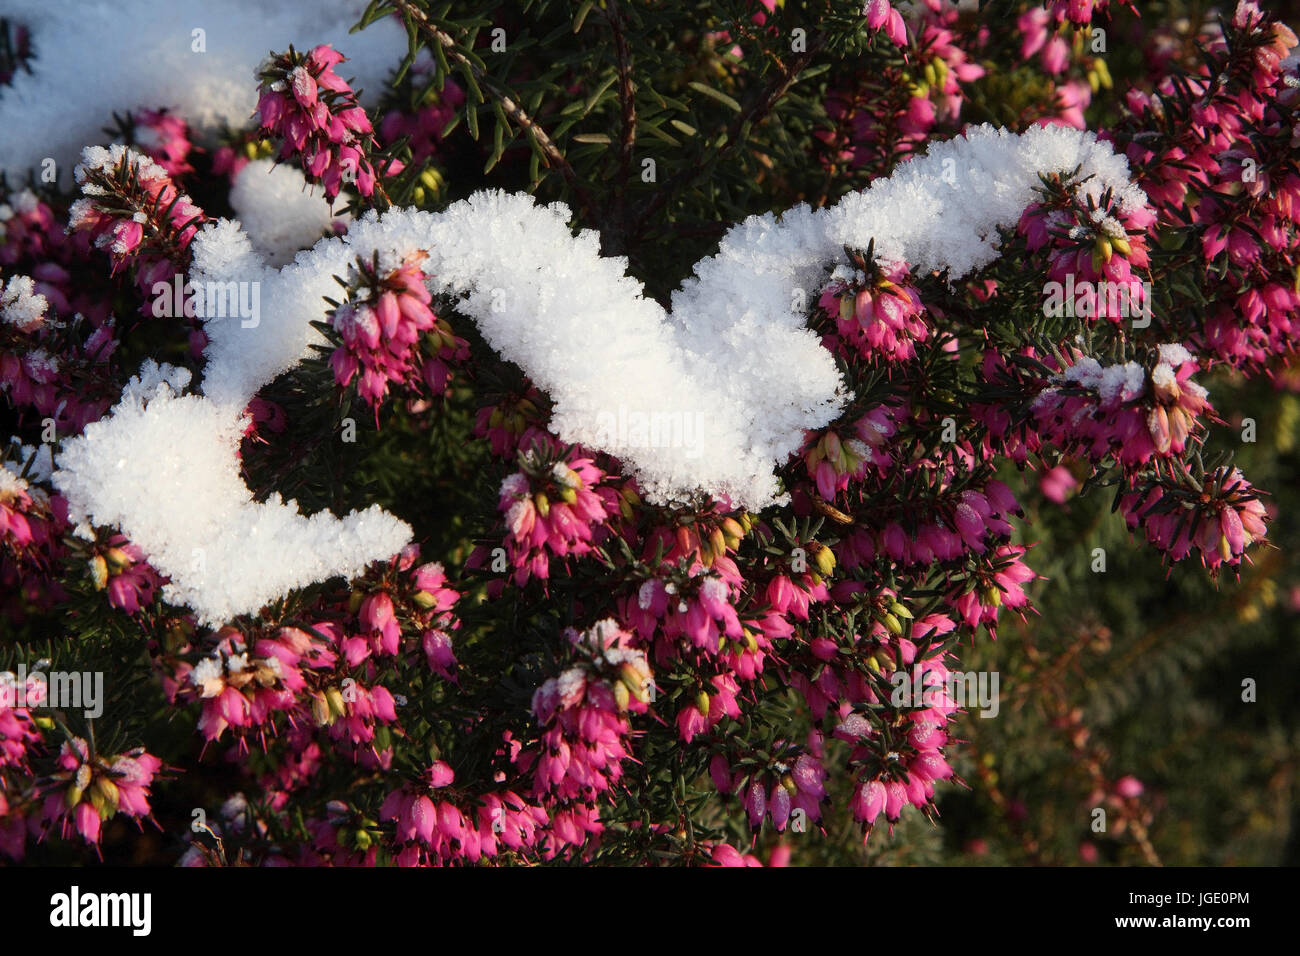
<path id="1" fill-rule="evenodd" d="M 179 394 L 188 378 L 146 363 L 107 418 L 64 442 L 53 475 L 74 522 L 121 528 L 170 578 L 169 602 L 216 627 L 410 541 L 378 507 L 338 519 L 304 516 L 278 494 L 254 502 L 239 476 L 242 410 Z"/>

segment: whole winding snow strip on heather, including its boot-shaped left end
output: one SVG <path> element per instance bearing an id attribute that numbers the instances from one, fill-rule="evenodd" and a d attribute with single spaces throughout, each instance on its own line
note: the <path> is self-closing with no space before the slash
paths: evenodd
<path id="1" fill-rule="evenodd" d="M 339 520 L 304 518 L 278 497 L 254 503 L 235 451 L 248 401 L 321 341 L 311 323 L 325 316 L 322 298 L 338 295 L 333 277 L 358 255 L 396 261 L 425 250 L 430 289 L 550 394 L 562 441 L 620 458 L 650 501 L 705 492 L 759 510 L 784 499 L 774 468 L 852 398 L 798 307 L 844 265 L 844 247 L 874 239 L 881 261 L 957 280 L 998 255 L 997 230 L 1035 199 L 1040 172 L 1078 166 L 1086 194 L 1113 189 L 1122 209 L 1145 202 L 1126 160 L 1092 134 L 976 127 L 832 208 L 732 228 L 673 295 L 671 315 L 642 295 L 625 259 L 601 255 L 595 233 L 569 229 L 566 206 L 526 195 L 476 193 L 441 213 L 369 212 L 278 269 L 259 247 L 285 255 L 304 233 L 269 241 L 265 209 L 251 232 L 217 221 L 195 237 L 190 278 L 259 282 L 260 323 L 207 319 L 202 394 L 181 395 L 186 382 L 146 369 L 107 419 L 65 444 L 55 481 L 74 512 L 122 528 L 172 578 L 168 600 L 205 623 L 396 553 L 410 528 L 378 509 Z M 1132 390 L 1127 367 L 1080 365 L 1069 375 L 1097 376 L 1108 395 Z M 692 415 L 701 434 L 689 446 L 637 445 L 608 428 L 623 412 Z"/>

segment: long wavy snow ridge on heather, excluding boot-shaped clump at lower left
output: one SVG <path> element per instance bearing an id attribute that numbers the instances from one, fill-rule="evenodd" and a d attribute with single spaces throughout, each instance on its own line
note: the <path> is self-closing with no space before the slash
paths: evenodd
<path id="1" fill-rule="evenodd" d="M 192 278 L 261 278 L 265 317 L 256 329 L 208 323 L 204 393 L 242 405 L 308 354 L 320 342 L 309 323 L 324 317 L 321 297 L 337 293 L 332 276 L 358 254 L 422 248 L 430 289 L 455 297 L 488 343 L 551 395 L 563 441 L 620 458 L 654 502 L 706 492 L 758 510 L 783 499 L 774 468 L 850 398 L 797 308 L 842 264 L 842 247 L 875 239 L 881 261 L 959 278 L 997 256 L 997 229 L 1035 199 L 1040 172 L 1078 166 L 1084 194 L 1114 189 L 1122 209 L 1145 202 L 1126 160 L 1092 134 L 975 127 L 829 209 L 801 206 L 734 226 L 673 295 L 671 315 L 641 294 L 624 259 L 599 255 L 595 233 L 571 232 L 567 207 L 524 195 L 482 191 L 441 213 L 368 213 L 278 273 L 244 230 L 222 222 L 195 239 Z M 608 428 L 620 411 L 681 415 L 702 433 L 689 446 L 634 444 L 620 432 L 636 429 Z"/>

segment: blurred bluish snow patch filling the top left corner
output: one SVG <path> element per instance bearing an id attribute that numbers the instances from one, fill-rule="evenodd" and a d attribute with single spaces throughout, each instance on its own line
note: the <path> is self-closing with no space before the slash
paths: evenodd
<path id="1" fill-rule="evenodd" d="M 200 142 L 244 126 L 257 105 L 256 73 L 269 51 L 332 43 L 338 68 L 369 105 L 407 49 L 393 18 L 348 34 L 365 0 L 5 0 L 4 16 L 31 31 L 31 73 L 0 88 L 0 170 L 22 182 L 46 157 L 65 170 L 101 142 L 113 112 L 168 107 Z M 194 49 L 203 30 L 204 52 Z"/>

